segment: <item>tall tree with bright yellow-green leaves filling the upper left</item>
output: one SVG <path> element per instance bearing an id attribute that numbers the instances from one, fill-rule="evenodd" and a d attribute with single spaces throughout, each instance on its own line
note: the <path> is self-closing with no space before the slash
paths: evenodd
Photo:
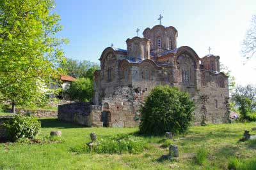
<path id="1" fill-rule="evenodd" d="M 60 16 L 53 0 L 0 1 L 0 92 L 15 104 L 40 101 L 63 60 Z"/>

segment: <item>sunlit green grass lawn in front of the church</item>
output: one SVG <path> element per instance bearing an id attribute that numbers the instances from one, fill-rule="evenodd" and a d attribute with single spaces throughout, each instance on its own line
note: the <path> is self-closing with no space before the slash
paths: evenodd
<path id="1" fill-rule="evenodd" d="M 228 158 L 232 156 L 245 162 L 252 160 L 256 164 L 256 141 L 237 142 L 245 129 L 256 127 L 255 122 L 191 127 L 184 139 L 177 141 L 166 141 L 164 137 L 144 137 L 143 140 L 149 143 L 150 148 L 143 153 L 100 155 L 72 153 L 70 147 L 89 142 L 90 132 L 104 137 L 132 134 L 138 128 L 86 128 L 58 122 L 54 118 L 40 121 L 40 136 L 49 135 L 50 131 L 58 129 L 62 131 L 63 142 L 44 145 L 0 143 L 0 169 L 227 169 Z M 252 134 L 256 134 L 256 131 L 252 131 Z M 177 159 L 159 159 L 168 153 L 168 148 L 163 147 L 166 143 L 179 147 L 180 156 Z M 201 150 L 207 150 L 209 154 L 205 161 L 198 163 L 195 157 L 198 158 L 196 155 Z"/>

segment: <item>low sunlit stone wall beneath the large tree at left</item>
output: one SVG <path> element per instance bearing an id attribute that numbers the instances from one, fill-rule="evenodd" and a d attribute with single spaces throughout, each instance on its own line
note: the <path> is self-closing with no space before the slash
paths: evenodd
<path id="1" fill-rule="evenodd" d="M 25 110 L 25 109 L 20 109 L 17 108 L 16 112 L 24 115 L 26 113 L 31 113 L 35 117 L 57 117 L 58 116 L 58 111 L 51 111 L 51 110 Z"/>

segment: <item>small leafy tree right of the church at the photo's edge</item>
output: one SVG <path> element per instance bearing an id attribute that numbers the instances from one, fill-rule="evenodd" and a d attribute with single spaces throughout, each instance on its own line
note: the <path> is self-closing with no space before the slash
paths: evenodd
<path id="1" fill-rule="evenodd" d="M 256 87 L 252 85 L 246 85 L 245 87 L 237 86 L 232 94 L 232 100 L 238 106 L 241 120 L 254 120 L 256 111 Z"/>

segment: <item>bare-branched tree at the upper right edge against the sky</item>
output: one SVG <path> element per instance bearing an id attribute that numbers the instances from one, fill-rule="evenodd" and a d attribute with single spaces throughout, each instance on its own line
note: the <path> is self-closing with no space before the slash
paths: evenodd
<path id="1" fill-rule="evenodd" d="M 256 55 L 256 15 L 253 15 L 252 24 L 246 31 L 242 44 L 242 53 L 246 59 L 255 57 Z"/>

